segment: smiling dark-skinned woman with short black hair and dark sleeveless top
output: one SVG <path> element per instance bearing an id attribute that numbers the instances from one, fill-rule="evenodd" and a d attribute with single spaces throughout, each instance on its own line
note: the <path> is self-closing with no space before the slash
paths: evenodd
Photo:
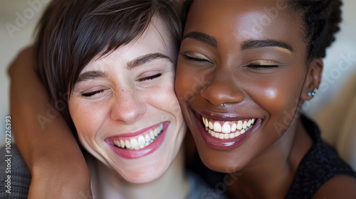
<path id="1" fill-rule="evenodd" d="M 300 106 L 315 95 L 339 1 L 193 1 L 176 93 L 206 166 L 234 198 L 355 198 L 356 174 Z"/>

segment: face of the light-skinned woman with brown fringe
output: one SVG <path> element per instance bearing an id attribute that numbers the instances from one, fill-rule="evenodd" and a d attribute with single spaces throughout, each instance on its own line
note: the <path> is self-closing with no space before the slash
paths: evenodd
<path id="1" fill-rule="evenodd" d="M 155 19 L 137 41 L 94 58 L 68 102 L 80 143 L 132 183 L 162 176 L 187 130 L 173 88 L 177 50 L 163 24 Z M 127 149 L 157 129 L 162 134 L 152 144 Z"/>

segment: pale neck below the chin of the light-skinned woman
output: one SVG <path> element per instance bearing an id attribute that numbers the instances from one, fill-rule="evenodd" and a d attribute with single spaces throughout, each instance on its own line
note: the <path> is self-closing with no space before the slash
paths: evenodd
<path id="1" fill-rule="evenodd" d="M 93 195 L 97 198 L 185 198 L 188 183 L 184 173 L 183 147 L 167 171 L 149 183 L 130 183 L 95 158 L 90 158 L 90 178 Z"/>

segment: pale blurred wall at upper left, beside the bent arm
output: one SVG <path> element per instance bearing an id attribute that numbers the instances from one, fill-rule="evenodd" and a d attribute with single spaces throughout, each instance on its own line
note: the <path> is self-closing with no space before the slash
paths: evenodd
<path id="1" fill-rule="evenodd" d="M 7 68 L 19 50 L 33 42 L 33 30 L 49 0 L 0 1 L 0 146 L 5 144 L 5 117 L 9 116 Z"/>

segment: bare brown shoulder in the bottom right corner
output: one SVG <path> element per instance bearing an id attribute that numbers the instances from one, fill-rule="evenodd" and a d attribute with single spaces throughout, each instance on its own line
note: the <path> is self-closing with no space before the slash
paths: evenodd
<path id="1" fill-rule="evenodd" d="M 356 178 L 346 175 L 335 176 L 323 184 L 313 198 L 356 198 Z"/>

